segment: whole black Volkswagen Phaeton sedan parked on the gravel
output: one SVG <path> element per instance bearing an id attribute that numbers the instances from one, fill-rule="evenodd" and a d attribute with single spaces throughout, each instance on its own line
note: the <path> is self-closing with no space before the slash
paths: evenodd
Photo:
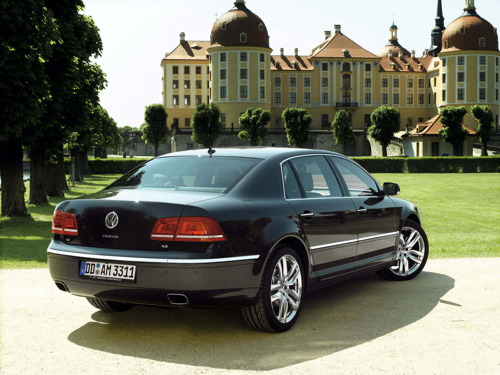
<path id="1" fill-rule="evenodd" d="M 173 152 L 59 203 L 47 248 L 61 290 L 95 307 L 240 307 L 281 332 L 305 292 L 376 271 L 408 280 L 428 242 L 416 207 L 329 151 Z"/>

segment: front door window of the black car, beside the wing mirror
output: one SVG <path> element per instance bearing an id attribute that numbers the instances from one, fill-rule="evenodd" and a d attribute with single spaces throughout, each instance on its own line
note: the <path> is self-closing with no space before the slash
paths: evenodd
<path id="1" fill-rule="evenodd" d="M 379 195 L 377 184 L 361 167 L 341 157 L 329 157 L 342 175 L 351 196 Z"/>

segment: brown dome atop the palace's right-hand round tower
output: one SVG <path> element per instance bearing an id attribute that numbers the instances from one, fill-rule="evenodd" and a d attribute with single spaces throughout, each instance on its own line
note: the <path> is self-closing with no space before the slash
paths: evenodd
<path id="1" fill-rule="evenodd" d="M 484 45 L 479 45 L 479 38 L 484 38 Z M 480 17 L 474 9 L 466 9 L 461 16 L 444 29 L 441 46 L 441 52 L 453 50 L 498 51 L 498 35 L 496 28 Z"/>

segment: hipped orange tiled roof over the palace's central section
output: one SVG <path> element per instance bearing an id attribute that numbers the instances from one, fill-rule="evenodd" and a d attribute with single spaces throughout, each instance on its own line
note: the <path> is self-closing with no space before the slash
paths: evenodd
<path id="1" fill-rule="evenodd" d="M 349 57 L 354 58 L 378 58 L 370 51 L 354 43 L 340 31 L 331 35 L 317 47 L 312 49 L 310 57 L 344 57 L 342 51 L 347 49 Z"/>

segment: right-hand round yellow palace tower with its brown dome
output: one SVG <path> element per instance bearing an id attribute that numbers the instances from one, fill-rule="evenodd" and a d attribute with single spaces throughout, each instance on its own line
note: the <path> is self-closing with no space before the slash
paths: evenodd
<path id="1" fill-rule="evenodd" d="M 474 0 L 465 0 L 463 13 L 442 32 L 440 76 L 441 105 L 487 104 L 498 124 L 499 60 L 496 27 L 479 16 Z M 472 128 L 477 121 L 468 114 L 464 123 Z"/>

